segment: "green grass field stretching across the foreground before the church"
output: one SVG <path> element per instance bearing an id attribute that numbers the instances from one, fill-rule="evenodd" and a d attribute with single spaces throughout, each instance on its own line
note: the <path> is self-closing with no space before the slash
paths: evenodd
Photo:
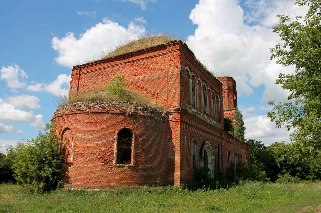
<path id="1" fill-rule="evenodd" d="M 319 212 L 320 204 L 320 181 L 243 181 L 228 190 L 197 192 L 172 186 L 113 191 L 58 189 L 41 195 L 32 195 L 19 185 L 0 185 L 0 212 Z"/>

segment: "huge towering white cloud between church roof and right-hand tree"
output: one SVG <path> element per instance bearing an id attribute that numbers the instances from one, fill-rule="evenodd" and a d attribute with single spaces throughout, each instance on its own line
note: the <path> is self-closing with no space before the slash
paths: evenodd
<path id="1" fill-rule="evenodd" d="M 277 23 L 277 19 L 275 21 L 271 17 L 290 12 L 300 15 L 305 13 L 305 9 L 289 7 L 294 5 L 294 0 L 273 1 L 273 4 L 261 7 L 251 1 L 248 4 L 257 7 L 256 13 L 247 13 L 245 17 L 236 0 L 200 0 L 189 15 L 197 28 L 194 35 L 188 36 L 187 43 L 196 57 L 208 62 L 218 75 L 233 76 L 239 96 L 250 95 L 253 88 L 264 85 L 262 101 L 285 100 L 288 92 L 274 82 L 280 72 L 292 73 L 294 67 L 284 68 L 269 60 L 269 49 L 281 43 L 279 35 L 270 27 Z M 258 8 L 263 9 L 258 11 Z M 251 17 L 258 22 L 256 25 L 246 24 Z"/>

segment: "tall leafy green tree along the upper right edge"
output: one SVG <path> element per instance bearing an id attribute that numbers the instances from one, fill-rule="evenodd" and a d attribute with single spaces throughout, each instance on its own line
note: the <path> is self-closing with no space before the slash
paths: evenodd
<path id="1" fill-rule="evenodd" d="M 295 65 L 294 74 L 279 74 L 276 84 L 290 90 L 288 100 L 292 102 L 275 103 L 273 111 L 268 112 L 276 127 L 295 128 L 293 140 L 310 138 L 321 140 L 321 1 L 296 0 L 299 6 L 308 5 L 304 18 L 278 15 L 279 25 L 273 28 L 280 34 L 283 44 L 278 44 L 270 51 L 270 59 L 277 58 L 277 64 Z M 300 23 L 304 21 L 304 24 Z"/>

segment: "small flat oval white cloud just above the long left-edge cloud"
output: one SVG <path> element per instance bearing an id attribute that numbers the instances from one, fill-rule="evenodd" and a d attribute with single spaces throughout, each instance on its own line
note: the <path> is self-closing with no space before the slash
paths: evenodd
<path id="1" fill-rule="evenodd" d="M 22 109 L 39 109 L 39 98 L 36 96 L 24 95 L 14 95 L 6 98 L 6 102 L 11 104 L 13 107 Z"/>

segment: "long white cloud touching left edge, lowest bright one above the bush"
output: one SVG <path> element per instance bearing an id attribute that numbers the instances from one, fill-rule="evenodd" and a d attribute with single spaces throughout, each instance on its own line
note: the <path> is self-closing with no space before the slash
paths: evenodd
<path id="1" fill-rule="evenodd" d="M 27 112 L 17 109 L 10 103 L 4 102 L 2 98 L 0 98 L 0 119 L 13 122 L 28 122 L 37 130 L 45 128 L 42 115 L 34 115 L 32 111 Z"/>

